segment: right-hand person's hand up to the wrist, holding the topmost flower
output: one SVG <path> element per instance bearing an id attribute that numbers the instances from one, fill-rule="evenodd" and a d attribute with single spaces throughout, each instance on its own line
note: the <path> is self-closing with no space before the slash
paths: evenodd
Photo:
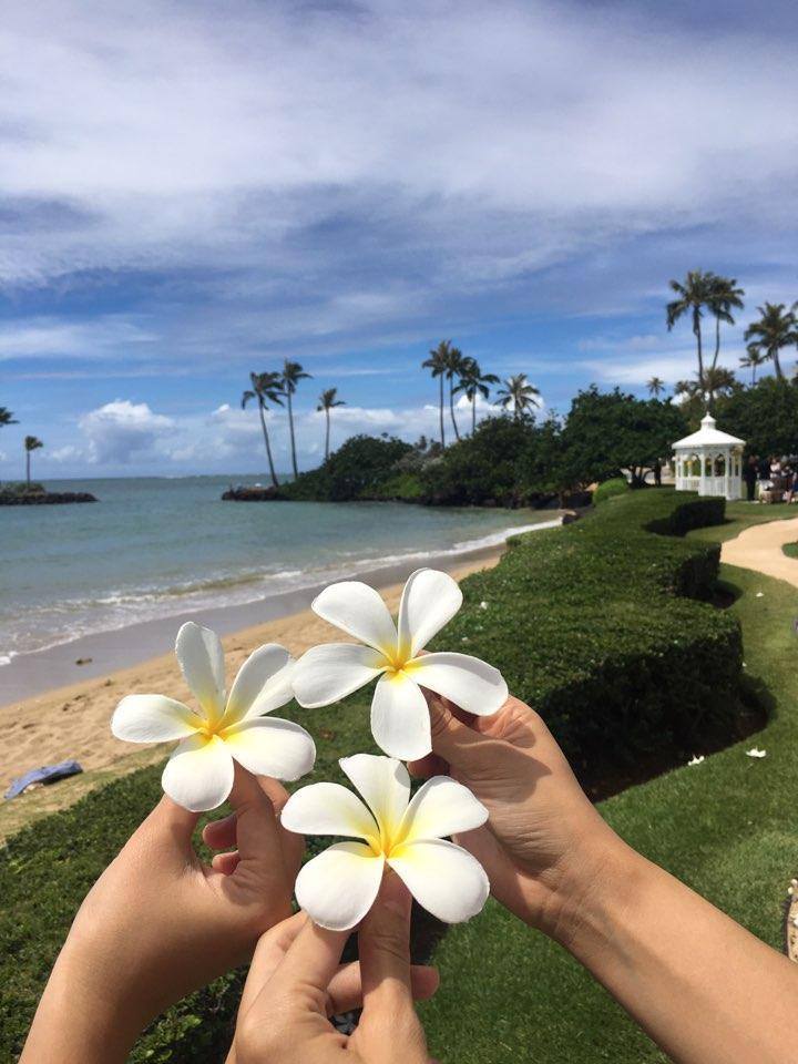
<path id="1" fill-rule="evenodd" d="M 526 923 L 557 937 L 583 891 L 624 843 L 602 820 L 541 717 L 510 696 L 472 717 L 427 692 L 433 753 L 408 768 L 451 775 L 488 808 L 484 827 L 456 841 L 480 861 L 491 893 Z"/>

